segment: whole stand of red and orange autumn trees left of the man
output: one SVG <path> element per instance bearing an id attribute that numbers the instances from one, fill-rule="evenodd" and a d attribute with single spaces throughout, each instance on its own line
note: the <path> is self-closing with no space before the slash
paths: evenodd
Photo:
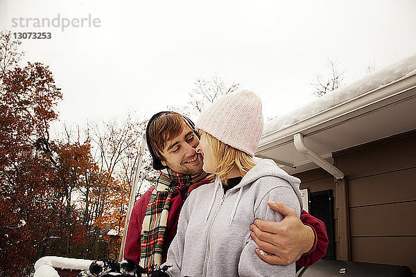
<path id="1" fill-rule="evenodd" d="M 19 64 L 19 44 L 0 32 L 0 276 L 28 276 L 42 256 L 119 251 L 107 233 L 123 233 L 146 125 L 127 116 L 51 139 L 61 90 L 48 66 Z M 141 188 L 155 178 L 148 155 L 143 168 Z"/>

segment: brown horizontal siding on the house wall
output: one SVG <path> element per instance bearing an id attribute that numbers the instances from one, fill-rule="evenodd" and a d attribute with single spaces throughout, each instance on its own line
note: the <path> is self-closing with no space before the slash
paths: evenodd
<path id="1" fill-rule="evenodd" d="M 407 265 L 416 276 L 416 130 L 333 153 L 333 159 L 347 179 L 351 259 Z M 336 200 L 336 184 L 324 170 L 295 176 L 309 192 L 332 189 Z"/>

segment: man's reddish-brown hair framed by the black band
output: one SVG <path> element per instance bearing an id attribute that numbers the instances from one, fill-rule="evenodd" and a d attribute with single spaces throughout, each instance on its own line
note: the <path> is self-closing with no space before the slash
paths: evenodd
<path id="1" fill-rule="evenodd" d="M 166 147 L 166 143 L 182 133 L 185 126 L 191 125 L 187 120 L 175 111 L 168 111 L 160 114 L 150 123 L 148 127 L 148 137 L 150 147 L 155 152 L 157 158 L 164 161 L 162 152 Z"/>

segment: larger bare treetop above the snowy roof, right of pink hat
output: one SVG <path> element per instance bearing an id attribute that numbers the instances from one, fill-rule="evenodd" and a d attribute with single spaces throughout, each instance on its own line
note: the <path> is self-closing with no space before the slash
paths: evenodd
<path id="1" fill-rule="evenodd" d="M 338 89 L 343 84 L 343 75 L 345 71 L 338 69 L 338 63 L 336 60 L 328 60 L 329 73 L 325 76 L 318 74 L 315 77 L 315 81 L 312 84 L 315 87 L 314 94 L 316 96 L 323 96 L 328 92 Z"/>

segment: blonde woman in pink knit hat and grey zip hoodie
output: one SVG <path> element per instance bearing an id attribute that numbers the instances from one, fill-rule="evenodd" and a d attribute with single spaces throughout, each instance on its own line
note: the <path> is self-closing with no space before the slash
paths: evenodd
<path id="1" fill-rule="evenodd" d="M 269 265 L 255 253 L 250 224 L 280 221 L 273 199 L 302 211 L 300 180 L 252 157 L 263 132 L 260 98 L 251 91 L 226 96 L 199 118 L 200 145 L 214 184 L 193 190 L 182 207 L 177 234 L 162 268 L 169 276 L 295 276 L 295 264 Z"/>

